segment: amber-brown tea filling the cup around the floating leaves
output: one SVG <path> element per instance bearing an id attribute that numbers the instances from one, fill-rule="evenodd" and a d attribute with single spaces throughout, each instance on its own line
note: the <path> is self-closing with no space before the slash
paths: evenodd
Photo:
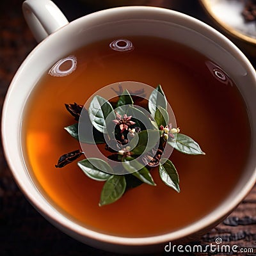
<path id="1" fill-rule="evenodd" d="M 115 51 L 109 44 L 116 38 L 111 38 L 67 54 L 77 61 L 76 70 L 68 76 L 45 73 L 26 104 L 23 150 L 42 193 L 67 216 L 107 234 L 152 236 L 193 223 L 230 193 L 246 164 L 250 125 L 244 101 L 230 80 L 232 74 L 219 65 L 210 68 L 214 61 L 159 38 L 125 39 L 132 42 L 132 51 Z M 214 68 L 218 68 L 215 73 Z M 228 83 L 223 83 L 223 76 Z M 63 129 L 74 123 L 64 104 L 83 105 L 103 86 L 120 81 L 154 88 L 161 84 L 177 127 L 196 138 L 206 156 L 173 151 L 170 159 L 179 170 L 180 193 L 163 184 L 157 170 L 152 170 L 156 187 L 143 184 L 115 204 L 99 207 L 102 182 L 88 179 L 76 163 L 54 167 L 58 157 L 79 147 Z M 104 145 L 100 148 L 104 151 Z"/>

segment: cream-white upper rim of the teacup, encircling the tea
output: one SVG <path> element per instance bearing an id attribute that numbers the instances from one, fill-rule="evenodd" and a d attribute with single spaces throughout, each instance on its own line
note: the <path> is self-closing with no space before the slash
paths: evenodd
<path id="1" fill-rule="evenodd" d="M 84 22 L 88 22 L 88 20 L 90 20 L 91 22 L 94 22 L 95 20 L 97 21 L 99 16 L 102 16 L 102 15 L 111 17 L 111 19 L 113 19 L 113 17 L 115 17 L 116 15 L 120 15 L 120 12 L 123 12 L 126 14 L 131 14 L 131 12 L 136 12 L 136 13 L 141 13 L 141 12 L 154 13 L 155 12 L 159 16 L 168 15 L 168 16 L 175 17 L 175 19 L 186 20 L 186 23 L 193 24 L 193 26 L 195 26 L 196 28 L 200 28 L 204 31 L 208 31 L 208 33 L 214 36 L 214 38 L 219 38 L 219 40 L 227 44 L 230 47 L 230 50 L 232 50 L 234 53 L 236 53 L 237 56 L 239 56 L 239 59 L 246 64 L 247 70 L 251 74 L 253 74 L 255 77 L 255 70 L 253 69 L 250 62 L 243 55 L 243 53 L 236 47 L 236 45 L 232 44 L 232 42 L 230 42 L 230 40 L 228 40 L 225 36 L 223 36 L 221 33 L 216 31 L 215 29 L 211 28 L 204 22 L 201 22 L 200 20 L 197 20 L 188 15 L 185 15 L 184 13 L 179 13 L 173 10 L 167 10 L 164 8 L 157 8 L 152 6 L 123 6 L 123 7 L 111 8 L 108 10 L 102 10 L 99 12 L 91 13 L 89 15 L 86 15 L 84 17 L 81 17 L 77 20 L 70 22 L 70 24 L 67 24 L 63 28 L 56 31 L 55 33 L 52 33 L 52 35 L 48 36 L 44 41 L 38 44 L 35 47 L 35 49 L 29 54 L 26 60 L 24 60 L 19 70 L 15 74 L 15 77 L 13 78 L 13 81 L 10 84 L 10 88 L 8 89 L 8 92 L 6 94 L 6 98 L 4 100 L 4 106 L 3 106 L 3 113 L 2 113 L 3 115 L 2 115 L 2 121 L 1 121 L 1 128 L 2 128 L 1 135 L 2 135 L 2 141 L 3 141 L 4 154 L 6 157 L 6 161 L 8 162 L 8 165 L 10 166 L 10 169 L 12 171 L 13 177 L 15 178 L 15 182 L 19 185 L 20 189 L 22 190 L 22 193 L 24 193 L 24 195 L 27 196 L 27 198 L 32 203 L 32 205 L 34 205 L 34 207 L 38 209 L 41 212 L 41 214 L 45 218 L 47 218 L 49 221 L 51 221 L 54 225 L 57 225 L 61 229 L 64 228 L 66 231 L 70 230 L 72 233 L 79 234 L 79 236 L 81 237 L 88 237 L 90 239 L 102 241 L 105 243 L 122 244 L 122 245 L 128 245 L 128 246 L 144 246 L 149 244 L 159 244 L 167 241 L 177 240 L 182 237 L 188 237 L 191 234 L 198 232 L 199 230 L 203 230 L 204 228 L 209 227 L 209 225 L 213 225 L 214 223 L 216 223 L 216 221 L 226 216 L 229 212 L 232 211 L 232 209 L 234 209 L 243 200 L 243 198 L 250 191 L 250 189 L 252 189 L 256 181 L 256 169 L 252 173 L 252 177 L 251 177 L 252 179 L 246 182 L 246 184 L 243 186 L 243 189 L 241 189 L 239 193 L 237 193 L 236 198 L 234 198 L 233 200 L 228 200 L 228 204 L 219 205 L 216 209 L 214 209 L 214 211 L 209 212 L 209 214 L 200 218 L 200 220 L 195 221 L 195 223 L 186 225 L 186 227 L 180 228 L 179 230 L 169 232 L 167 234 L 156 235 L 156 236 L 149 236 L 149 237 L 112 236 L 109 234 L 104 234 L 101 232 L 91 230 L 90 228 L 82 227 L 81 225 L 74 223 L 72 220 L 68 220 L 66 216 L 63 216 L 61 212 L 57 211 L 48 202 L 46 202 L 46 199 L 42 195 L 35 196 L 33 193 L 31 193 L 31 191 L 28 191 L 28 189 L 26 188 L 27 186 L 26 182 L 29 182 L 29 181 L 26 180 L 25 182 L 24 180 L 19 179 L 19 175 L 18 175 L 19 170 L 17 170 L 17 167 L 13 164 L 12 146 L 9 145 L 9 141 L 6 139 L 6 134 L 8 133 L 8 125 L 6 124 L 6 118 L 8 118 L 8 115 L 7 115 L 8 109 L 11 108 L 9 106 L 9 101 L 11 97 L 13 97 L 12 96 L 13 88 L 17 86 L 19 77 L 21 76 L 24 68 L 26 68 L 26 66 L 29 65 L 29 61 L 31 61 L 32 58 L 35 58 L 37 52 L 42 51 L 41 50 L 42 46 L 46 45 L 47 42 L 51 40 L 55 40 L 54 38 L 57 38 L 57 36 L 60 35 L 61 33 L 62 34 L 66 33 L 65 31 L 67 29 L 72 29 L 74 26 L 81 26 L 80 24 L 84 24 Z M 32 88 L 33 86 L 30 86 L 30 87 Z M 23 105 L 24 105 L 24 102 L 23 102 Z M 18 129 L 19 127 L 17 127 L 17 131 Z M 40 194 L 40 192 L 38 192 L 38 194 Z M 41 202 L 38 201 L 38 198 L 41 200 Z M 45 202 L 42 202 L 44 200 Z M 225 202 L 225 200 L 223 200 L 223 202 Z"/>

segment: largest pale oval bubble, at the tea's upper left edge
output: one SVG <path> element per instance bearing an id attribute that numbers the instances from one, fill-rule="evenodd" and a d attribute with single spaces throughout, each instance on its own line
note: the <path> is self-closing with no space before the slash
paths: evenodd
<path id="1" fill-rule="evenodd" d="M 76 67 L 77 58 L 75 56 L 68 56 L 55 63 L 48 74 L 56 77 L 68 76 L 76 70 Z"/>

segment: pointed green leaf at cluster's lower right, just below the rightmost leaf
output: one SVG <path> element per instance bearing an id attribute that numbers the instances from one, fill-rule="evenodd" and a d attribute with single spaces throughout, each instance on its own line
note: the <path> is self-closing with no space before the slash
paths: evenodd
<path id="1" fill-rule="evenodd" d="M 164 164 L 159 164 L 159 175 L 164 184 L 180 192 L 179 175 L 173 163 L 167 159 Z"/>

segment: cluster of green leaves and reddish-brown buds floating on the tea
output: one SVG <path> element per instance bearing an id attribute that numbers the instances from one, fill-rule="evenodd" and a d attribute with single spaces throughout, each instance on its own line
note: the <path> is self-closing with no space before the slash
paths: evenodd
<path id="1" fill-rule="evenodd" d="M 105 143 L 109 161 L 121 163 L 126 172 L 122 175 L 115 174 L 120 173 L 116 172 L 115 166 L 99 158 L 90 157 L 77 163 L 90 179 L 104 182 L 100 206 L 116 202 L 125 191 L 143 183 L 156 186 L 151 175 L 154 167 L 158 168 L 159 177 L 164 184 L 179 193 L 177 170 L 170 159 L 162 157 L 167 144 L 184 154 L 205 154 L 198 143 L 181 134 L 179 128 L 169 124 L 168 104 L 160 85 L 148 99 L 149 116 L 134 106 L 134 99 L 127 90 L 124 90 L 115 102 L 115 110 L 108 100 L 99 95 L 93 97 L 88 110 L 76 103 L 65 104 L 65 107 L 77 122 L 83 111 L 83 122 L 92 124 L 93 134 L 91 137 L 78 135 L 77 122 L 65 127 L 65 130 L 83 143 Z M 111 125 L 114 125 L 113 131 L 109 129 Z M 106 141 L 106 138 L 109 140 Z M 62 168 L 81 155 L 83 152 L 79 149 L 64 154 L 56 167 Z M 120 168 L 120 165 L 118 166 Z"/>

